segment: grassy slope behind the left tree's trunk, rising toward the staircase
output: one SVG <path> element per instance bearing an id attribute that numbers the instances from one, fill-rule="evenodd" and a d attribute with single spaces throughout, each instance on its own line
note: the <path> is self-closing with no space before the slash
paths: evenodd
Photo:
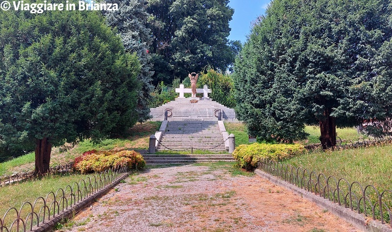
<path id="1" fill-rule="evenodd" d="M 58 147 L 52 148 L 50 165 L 73 161 L 75 157 L 93 149 L 105 151 L 123 149 L 148 149 L 149 136 L 154 134 L 155 131 L 159 130 L 161 124 L 162 122 L 151 121 L 143 124 L 138 123 L 133 128 L 129 129 L 129 136 L 127 138 L 105 139 L 96 144 L 94 144 L 91 140 L 84 140 L 65 152 L 60 152 Z M 0 163 L 0 175 L 9 175 L 23 170 L 31 170 L 34 168 L 34 160 L 34 153 L 29 153 L 10 161 L 2 162 Z"/>

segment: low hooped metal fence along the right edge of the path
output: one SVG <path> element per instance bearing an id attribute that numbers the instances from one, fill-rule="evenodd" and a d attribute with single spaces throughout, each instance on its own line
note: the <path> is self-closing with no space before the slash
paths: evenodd
<path id="1" fill-rule="evenodd" d="M 382 224 L 389 223 L 392 227 L 392 190 L 379 191 L 371 184 L 364 187 L 358 181 L 338 180 L 275 161 L 262 161 L 258 168 L 340 206 L 380 220 Z"/>

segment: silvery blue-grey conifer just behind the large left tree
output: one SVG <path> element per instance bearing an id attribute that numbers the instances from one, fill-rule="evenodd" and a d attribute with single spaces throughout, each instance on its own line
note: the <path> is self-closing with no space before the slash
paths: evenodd
<path id="1" fill-rule="evenodd" d="M 139 122 L 144 122 L 150 118 L 148 102 L 150 93 L 153 90 L 152 63 L 149 47 L 152 42 L 151 30 L 146 27 L 148 13 L 146 11 L 146 0 L 112 0 L 119 5 L 119 10 L 106 11 L 105 16 L 108 25 L 117 27 L 126 52 L 136 52 L 139 62 L 142 65 L 138 80 L 142 88 L 138 93 Z"/>

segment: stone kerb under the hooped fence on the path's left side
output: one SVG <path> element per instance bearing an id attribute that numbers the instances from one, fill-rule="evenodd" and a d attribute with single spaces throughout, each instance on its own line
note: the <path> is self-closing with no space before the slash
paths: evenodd
<path id="1" fill-rule="evenodd" d="M 115 180 L 114 182 L 112 182 L 111 184 L 109 184 L 108 186 L 102 188 L 101 190 L 99 190 L 98 192 L 94 193 L 93 195 L 91 195 L 90 197 L 84 199 L 83 201 L 79 202 L 78 204 L 72 206 L 71 208 L 61 212 L 60 214 L 54 216 L 51 220 L 49 220 L 48 222 L 46 222 L 45 224 L 40 225 L 39 227 L 35 227 L 33 228 L 32 231 L 34 232 L 49 232 L 52 231 L 53 226 L 60 222 L 63 219 L 70 219 L 71 217 L 73 217 L 76 213 L 78 213 L 80 210 L 82 210 L 83 208 L 91 205 L 97 198 L 102 197 L 103 195 L 105 195 L 110 189 L 112 189 L 114 186 L 116 186 L 117 184 L 120 183 L 121 180 L 124 180 L 125 178 L 127 178 L 129 176 L 131 172 L 127 172 L 125 173 L 122 177 L 120 177 L 119 179 Z"/>

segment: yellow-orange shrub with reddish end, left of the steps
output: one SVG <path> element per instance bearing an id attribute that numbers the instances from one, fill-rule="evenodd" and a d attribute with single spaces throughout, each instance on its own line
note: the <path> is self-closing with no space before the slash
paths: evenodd
<path id="1" fill-rule="evenodd" d="M 85 173 L 103 172 L 111 168 L 126 165 L 131 169 L 140 169 L 146 166 L 143 156 L 135 151 L 104 152 L 92 150 L 76 157 L 73 168 Z"/>

